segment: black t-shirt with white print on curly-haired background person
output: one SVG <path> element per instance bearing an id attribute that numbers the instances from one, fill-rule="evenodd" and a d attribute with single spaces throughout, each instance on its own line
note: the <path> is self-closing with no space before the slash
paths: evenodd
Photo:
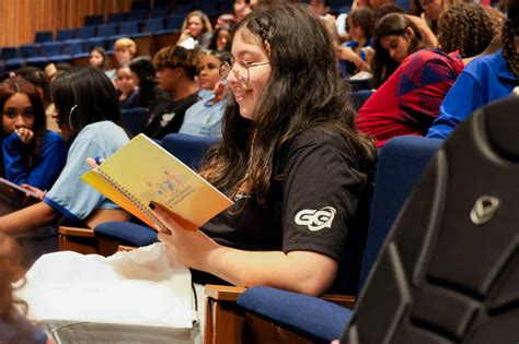
<path id="1" fill-rule="evenodd" d="M 162 140 L 169 133 L 178 132 L 186 110 L 198 99 L 198 93 L 193 93 L 181 100 L 166 104 L 159 114 L 151 115 L 151 121 L 143 133 L 149 138 Z"/>

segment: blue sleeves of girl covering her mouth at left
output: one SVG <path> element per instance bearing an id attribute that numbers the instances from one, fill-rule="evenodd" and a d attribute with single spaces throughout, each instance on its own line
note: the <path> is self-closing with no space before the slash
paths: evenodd
<path id="1" fill-rule="evenodd" d="M 14 133 L 13 133 L 14 134 Z M 43 142 L 39 164 L 27 170 L 20 151 L 24 143 L 10 135 L 4 140 L 3 154 L 5 177 L 14 183 L 26 183 L 42 190 L 49 189 L 61 173 L 67 161 L 67 146 L 57 133 L 48 133 Z"/>

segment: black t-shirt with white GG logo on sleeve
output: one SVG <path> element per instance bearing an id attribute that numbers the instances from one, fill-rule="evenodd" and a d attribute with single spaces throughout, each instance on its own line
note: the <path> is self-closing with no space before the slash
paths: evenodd
<path id="1" fill-rule="evenodd" d="M 272 181 L 266 207 L 253 194 L 238 200 L 201 230 L 221 245 L 243 250 L 326 254 L 339 263 L 332 292 L 356 294 L 371 180 L 346 153 L 345 140 L 322 128 L 308 129 L 279 152 L 274 170 L 281 178 Z M 246 202 L 243 210 L 233 214 L 241 202 Z"/>

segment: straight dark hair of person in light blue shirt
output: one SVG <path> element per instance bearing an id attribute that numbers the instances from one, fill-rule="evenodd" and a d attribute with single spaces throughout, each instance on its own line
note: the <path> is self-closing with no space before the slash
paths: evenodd
<path id="1" fill-rule="evenodd" d="M 69 143 L 88 124 L 103 120 L 120 124 L 117 93 L 100 69 L 72 68 L 60 73 L 50 88 L 60 127 L 70 128 Z"/>

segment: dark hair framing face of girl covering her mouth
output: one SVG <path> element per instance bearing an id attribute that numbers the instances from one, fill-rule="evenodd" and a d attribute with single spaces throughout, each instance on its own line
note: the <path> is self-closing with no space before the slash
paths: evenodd
<path id="1" fill-rule="evenodd" d="M 45 116 L 45 108 L 43 105 L 42 97 L 39 93 L 32 83 L 28 81 L 16 76 L 7 79 L 0 84 L 0 109 L 3 110 L 5 106 L 5 102 L 10 97 L 12 97 L 16 93 L 23 93 L 28 97 L 31 105 L 34 111 L 34 124 L 32 131 L 34 133 L 34 138 L 28 144 L 28 154 L 25 156 L 25 166 L 27 169 L 32 169 L 37 164 L 39 164 L 42 159 L 42 146 L 45 139 L 45 134 L 47 133 L 47 126 L 46 126 L 46 116 Z M 3 115 L 2 115 L 3 116 Z M 3 131 L 2 131 L 2 140 L 3 140 Z M 2 163 L 0 164 L 0 170 L 3 175 L 3 156 Z"/>

